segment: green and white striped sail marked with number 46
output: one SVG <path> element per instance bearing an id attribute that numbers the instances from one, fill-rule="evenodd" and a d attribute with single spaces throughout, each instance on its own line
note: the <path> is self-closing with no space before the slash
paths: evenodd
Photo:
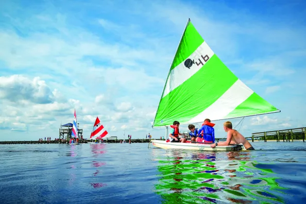
<path id="1" fill-rule="evenodd" d="M 241 82 L 190 22 L 174 56 L 153 127 L 280 112 Z"/>

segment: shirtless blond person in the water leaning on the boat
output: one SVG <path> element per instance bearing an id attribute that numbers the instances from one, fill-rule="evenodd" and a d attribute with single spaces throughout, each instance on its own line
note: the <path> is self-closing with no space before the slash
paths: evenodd
<path id="1" fill-rule="evenodd" d="M 244 136 L 242 136 L 237 130 L 233 130 L 233 125 L 230 121 L 226 121 L 223 123 L 223 129 L 225 132 L 227 132 L 226 141 L 211 144 L 211 148 L 215 148 L 216 146 L 229 146 L 232 142 L 234 144 L 243 144 L 246 150 L 255 150 L 254 147 L 250 144 L 248 140 L 246 140 Z"/>

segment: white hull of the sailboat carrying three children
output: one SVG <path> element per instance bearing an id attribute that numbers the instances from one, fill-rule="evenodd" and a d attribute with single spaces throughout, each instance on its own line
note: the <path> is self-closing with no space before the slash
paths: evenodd
<path id="1" fill-rule="evenodd" d="M 201 143 L 182 143 L 182 142 L 166 142 L 165 140 L 151 140 L 154 147 L 162 149 L 182 149 L 182 150 L 200 150 L 200 151 L 239 151 L 246 150 L 244 146 L 217 146 L 211 148 L 210 144 Z"/>

